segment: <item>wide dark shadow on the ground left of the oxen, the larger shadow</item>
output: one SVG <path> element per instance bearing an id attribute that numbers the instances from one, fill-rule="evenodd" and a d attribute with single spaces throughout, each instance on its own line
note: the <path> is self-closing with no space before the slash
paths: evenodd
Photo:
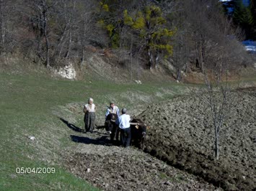
<path id="1" fill-rule="evenodd" d="M 111 143 L 110 139 L 107 139 L 107 137 L 108 136 L 101 136 L 98 139 L 91 139 L 89 137 L 84 137 L 84 136 L 76 136 L 76 135 L 70 136 L 71 140 L 76 143 L 112 146 L 113 144 Z"/>

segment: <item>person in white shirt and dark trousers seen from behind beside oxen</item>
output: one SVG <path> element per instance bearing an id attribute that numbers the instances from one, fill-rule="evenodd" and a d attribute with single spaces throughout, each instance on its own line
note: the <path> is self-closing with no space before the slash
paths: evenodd
<path id="1" fill-rule="evenodd" d="M 121 142 L 124 147 L 130 146 L 131 142 L 131 128 L 130 121 L 131 117 L 126 114 L 126 108 L 122 109 L 122 115 L 118 118 L 118 126 L 121 132 Z"/>

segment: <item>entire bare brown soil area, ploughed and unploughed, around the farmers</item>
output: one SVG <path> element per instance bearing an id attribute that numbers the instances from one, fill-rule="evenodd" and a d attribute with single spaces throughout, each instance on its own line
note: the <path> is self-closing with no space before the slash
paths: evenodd
<path id="1" fill-rule="evenodd" d="M 76 146 L 65 153 L 65 166 L 102 190 L 253 190 L 256 91 L 234 94 L 235 109 L 220 132 L 219 161 L 213 157 L 214 129 L 207 109 L 198 95 L 187 95 L 151 104 L 138 115 L 151 126 L 146 153 L 112 145 L 105 129 L 76 131 L 70 136 Z"/>

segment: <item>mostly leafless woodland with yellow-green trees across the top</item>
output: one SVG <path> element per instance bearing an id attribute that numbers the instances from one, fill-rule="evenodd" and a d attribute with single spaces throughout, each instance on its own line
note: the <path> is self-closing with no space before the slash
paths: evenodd
<path id="1" fill-rule="evenodd" d="M 0 0 L 0 57 L 58 67 L 81 65 L 88 49 L 113 50 L 151 70 L 167 60 L 177 79 L 189 64 L 246 65 L 239 41 L 255 37 L 256 1 L 225 10 L 217 0 Z"/>

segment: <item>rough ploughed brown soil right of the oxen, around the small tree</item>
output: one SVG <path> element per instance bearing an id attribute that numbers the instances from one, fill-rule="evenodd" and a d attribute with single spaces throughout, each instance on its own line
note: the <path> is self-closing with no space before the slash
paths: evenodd
<path id="1" fill-rule="evenodd" d="M 145 151 L 224 190 L 256 189 L 256 89 L 233 96 L 235 109 L 220 130 L 219 160 L 211 116 L 198 95 L 150 105 L 138 116 L 151 126 Z"/>

